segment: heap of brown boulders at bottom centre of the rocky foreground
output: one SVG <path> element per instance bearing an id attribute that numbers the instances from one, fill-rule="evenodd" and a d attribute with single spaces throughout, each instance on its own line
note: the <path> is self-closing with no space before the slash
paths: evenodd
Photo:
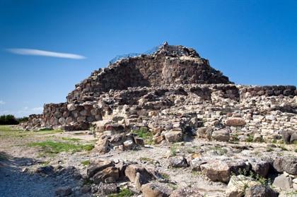
<path id="1" fill-rule="evenodd" d="M 141 167 L 135 162 L 122 162 L 113 160 L 95 160 L 87 169 L 87 178 L 94 182 L 91 193 L 107 196 L 118 193 L 123 182 L 129 181 L 134 185 L 130 188 L 135 194 L 144 197 L 176 197 L 202 196 L 198 191 L 190 188 L 182 188 L 173 192 L 173 189 L 163 184 L 164 179 L 155 169 Z"/>

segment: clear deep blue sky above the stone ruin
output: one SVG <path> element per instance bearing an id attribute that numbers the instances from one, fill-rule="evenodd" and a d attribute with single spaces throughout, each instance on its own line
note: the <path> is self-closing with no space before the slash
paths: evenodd
<path id="1" fill-rule="evenodd" d="M 280 0 L 0 0 L 0 114 L 65 102 L 114 56 L 165 40 L 196 49 L 235 83 L 297 85 L 296 10 L 297 1 Z"/>

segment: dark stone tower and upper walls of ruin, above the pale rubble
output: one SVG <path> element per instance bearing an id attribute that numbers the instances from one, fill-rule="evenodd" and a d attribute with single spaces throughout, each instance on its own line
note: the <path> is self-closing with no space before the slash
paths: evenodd
<path id="1" fill-rule="evenodd" d="M 122 113 L 129 121 L 130 114 L 141 117 L 144 111 L 170 109 L 178 102 L 184 105 L 184 100 L 179 100 L 181 96 L 185 102 L 199 99 L 214 103 L 218 97 L 240 102 L 248 97 L 257 100 L 294 95 L 297 95 L 296 87 L 290 85 L 233 85 L 194 49 L 163 44 L 151 55 L 120 59 L 107 68 L 93 71 L 90 77 L 76 84 L 67 102 L 45 104 L 43 114 L 31 115 L 23 126 L 86 130 L 92 122 L 112 119 L 114 114 Z"/>

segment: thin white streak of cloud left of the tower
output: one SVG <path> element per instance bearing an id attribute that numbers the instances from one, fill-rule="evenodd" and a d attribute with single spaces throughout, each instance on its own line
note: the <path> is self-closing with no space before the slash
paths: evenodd
<path id="1" fill-rule="evenodd" d="M 40 49 L 6 49 L 6 51 L 11 52 L 13 54 L 21 54 L 21 55 L 52 56 L 52 57 L 66 58 L 66 59 L 86 59 L 86 56 L 82 56 L 79 54 L 50 52 L 50 51 L 44 51 Z"/>

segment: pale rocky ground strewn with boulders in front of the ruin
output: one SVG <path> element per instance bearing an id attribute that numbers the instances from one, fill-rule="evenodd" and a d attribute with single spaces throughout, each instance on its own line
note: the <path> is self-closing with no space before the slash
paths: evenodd
<path id="1" fill-rule="evenodd" d="M 90 131 L 24 132 L 8 127 L 0 130 L 1 196 L 111 196 L 111 193 L 116 193 L 115 196 L 169 196 L 170 193 L 172 196 L 184 196 L 186 191 L 188 196 L 234 196 L 234 191 L 238 193 L 245 179 L 253 179 L 247 181 L 248 184 L 269 186 L 279 191 L 280 196 L 297 195 L 296 175 L 291 175 L 297 170 L 297 153 L 294 152 L 297 147 L 293 144 L 231 143 L 196 137 L 185 142 L 144 145 L 134 150 L 111 150 L 105 154 L 98 153 L 96 149 L 66 149 L 53 153 L 56 149 L 52 146 L 47 147 L 52 150 L 47 150 L 32 143 L 55 141 L 89 145 L 94 143 L 95 138 Z M 271 160 L 274 157 L 280 158 L 280 162 Z M 111 171 L 98 174 L 98 167 L 104 171 L 109 165 Z M 120 169 L 117 175 L 112 172 L 112 166 Z M 123 166 L 125 175 L 121 177 L 119 174 Z M 244 177 L 244 171 L 238 172 L 240 168 L 253 169 L 266 178 L 246 175 L 248 178 L 234 181 L 237 187 L 231 186 L 232 181 L 229 180 L 235 179 L 233 173 Z M 283 169 L 277 172 L 279 168 Z M 144 177 L 136 178 L 134 171 Z M 144 184 L 139 186 L 141 181 Z M 146 184 L 148 181 L 150 183 Z M 269 195 L 267 191 L 265 195 Z"/>

